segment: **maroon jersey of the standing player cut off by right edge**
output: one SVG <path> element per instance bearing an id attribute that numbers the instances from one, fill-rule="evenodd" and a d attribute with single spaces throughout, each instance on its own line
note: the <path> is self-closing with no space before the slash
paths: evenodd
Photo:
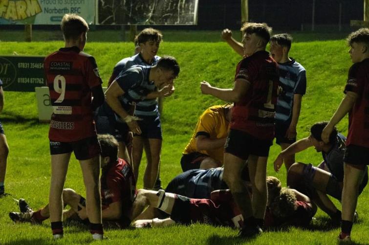
<path id="1" fill-rule="evenodd" d="M 369 148 L 369 58 L 351 66 L 345 94 L 346 92 L 358 95 L 348 113 L 346 145 Z"/>

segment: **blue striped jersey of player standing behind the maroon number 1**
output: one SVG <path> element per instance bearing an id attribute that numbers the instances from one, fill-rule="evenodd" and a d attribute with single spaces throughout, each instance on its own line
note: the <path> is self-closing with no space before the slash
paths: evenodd
<path id="1" fill-rule="evenodd" d="M 306 71 L 301 64 L 291 59 L 285 63 L 278 63 L 282 93 L 277 98 L 276 124 L 290 124 L 293 95 L 306 93 Z"/>

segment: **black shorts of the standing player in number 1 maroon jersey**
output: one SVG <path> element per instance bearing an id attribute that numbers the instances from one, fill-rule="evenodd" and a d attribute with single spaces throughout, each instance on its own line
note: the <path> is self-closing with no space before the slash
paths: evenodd
<path id="1" fill-rule="evenodd" d="M 247 160 L 249 155 L 268 156 L 272 140 L 260 140 L 247 132 L 231 129 L 224 145 L 224 151 Z"/>

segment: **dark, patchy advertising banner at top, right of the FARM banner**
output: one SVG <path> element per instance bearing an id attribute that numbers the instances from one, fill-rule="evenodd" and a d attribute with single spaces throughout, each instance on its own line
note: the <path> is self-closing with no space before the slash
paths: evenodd
<path id="1" fill-rule="evenodd" d="M 99 0 L 98 24 L 196 25 L 198 0 Z"/>

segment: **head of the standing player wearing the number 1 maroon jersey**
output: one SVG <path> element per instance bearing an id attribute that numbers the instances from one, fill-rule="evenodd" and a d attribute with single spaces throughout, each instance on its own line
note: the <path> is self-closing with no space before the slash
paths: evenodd
<path id="1" fill-rule="evenodd" d="M 269 42 L 272 28 L 266 23 L 249 23 L 242 25 L 243 53 L 245 56 L 251 56 L 259 50 L 265 50 L 266 44 Z"/>

